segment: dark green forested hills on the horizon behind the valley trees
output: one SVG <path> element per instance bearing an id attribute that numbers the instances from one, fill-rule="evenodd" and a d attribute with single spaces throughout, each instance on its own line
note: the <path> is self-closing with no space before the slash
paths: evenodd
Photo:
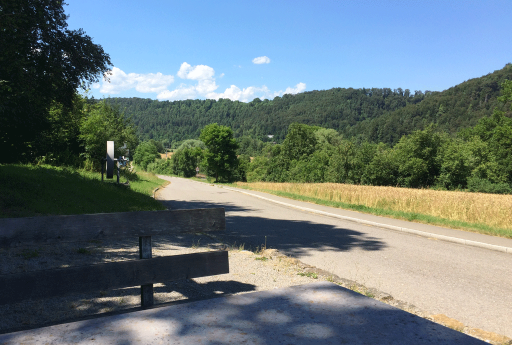
<path id="1" fill-rule="evenodd" d="M 201 129 L 217 122 L 232 128 L 235 137 L 282 141 L 292 122 L 334 128 L 345 138 L 394 144 L 404 134 L 434 123 L 437 130 L 456 133 L 492 114 L 501 83 L 512 79 L 512 64 L 442 92 L 389 88 L 330 89 L 284 95 L 244 103 L 219 99 L 157 101 L 109 98 L 132 116 L 142 140 L 177 142 L 198 138 Z"/>

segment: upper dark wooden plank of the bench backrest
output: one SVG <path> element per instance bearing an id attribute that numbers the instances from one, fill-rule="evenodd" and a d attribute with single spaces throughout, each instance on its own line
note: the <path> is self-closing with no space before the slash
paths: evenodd
<path id="1" fill-rule="evenodd" d="M 224 208 L 6 218 L 0 248 L 225 229 Z"/>

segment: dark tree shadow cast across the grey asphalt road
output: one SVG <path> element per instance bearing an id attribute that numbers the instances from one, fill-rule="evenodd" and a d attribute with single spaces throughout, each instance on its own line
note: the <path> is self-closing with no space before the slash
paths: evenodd
<path id="1" fill-rule="evenodd" d="M 308 249 L 381 250 L 386 247 L 382 239 L 368 236 L 364 232 L 336 227 L 328 224 L 254 217 L 258 209 L 244 208 L 232 204 L 204 201 L 161 201 L 169 209 L 224 207 L 226 210 L 226 233 L 222 241 L 232 246 L 244 245 L 245 249 L 276 248 L 289 255 L 306 254 Z M 177 245 L 180 245 L 177 243 Z M 190 246 L 190 243 L 182 244 Z"/>

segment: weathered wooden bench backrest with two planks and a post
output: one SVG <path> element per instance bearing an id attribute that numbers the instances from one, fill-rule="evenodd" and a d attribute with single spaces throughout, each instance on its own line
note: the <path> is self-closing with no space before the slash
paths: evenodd
<path id="1" fill-rule="evenodd" d="M 0 305 L 141 287 L 151 307 L 153 284 L 229 273 L 226 250 L 152 257 L 151 237 L 224 231 L 224 208 L 0 219 L 0 248 L 139 238 L 139 260 L 0 275 Z"/>

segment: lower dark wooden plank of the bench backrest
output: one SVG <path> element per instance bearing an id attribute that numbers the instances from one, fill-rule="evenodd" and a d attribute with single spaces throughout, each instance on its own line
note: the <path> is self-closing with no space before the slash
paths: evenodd
<path id="1" fill-rule="evenodd" d="M 0 305 L 229 273 L 226 250 L 0 275 Z"/>

